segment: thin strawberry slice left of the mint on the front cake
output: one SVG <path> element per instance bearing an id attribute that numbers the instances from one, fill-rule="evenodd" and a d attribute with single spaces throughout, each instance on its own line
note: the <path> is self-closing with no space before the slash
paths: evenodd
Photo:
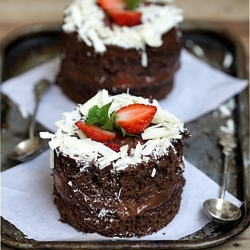
<path id="1" fill-rule="evenodd" d="M 113 132 L 104 130 L 95 125 L 86 125 L 86 123 L 82 121 L 76 122 L 75 125 L 81 129 L 86 136 L 98 142 L 110 141 L 116 136 Z"/>

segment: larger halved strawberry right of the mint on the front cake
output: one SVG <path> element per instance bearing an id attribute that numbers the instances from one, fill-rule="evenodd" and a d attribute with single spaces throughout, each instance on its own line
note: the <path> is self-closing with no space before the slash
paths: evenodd
<path id="1" fill-rule="evenodd" d="M 116 123 L 129 134 L 140 134 L 149 126 L 156 111 L 155 106 L 130 104 L 116 112 Z"/>

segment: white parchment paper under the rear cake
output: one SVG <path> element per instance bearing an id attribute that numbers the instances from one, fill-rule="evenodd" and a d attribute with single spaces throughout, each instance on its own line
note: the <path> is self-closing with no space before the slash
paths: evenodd
<path id="1" fill-rule="evenodd" d="M 53 82 L 59 65 L 60 59 L 55 58 L 21 76 L 11 78 L 2 84 L 2 92 L 31 113 L 35 105 L 35 83 L 42 78 Z M 247 84 L 247 80 L 224 74 L 182 50 L 181 68 L 176 74 L 174 88 L 160 103 L 181 121 L 189 122 L 218 108 L 221 103 L 246 88 Z M 58 86 L 53 85 L 41 101 L 37 120 L 49 130 L 55 131 L 54 123 L 61 119 L 62 112 L 71 111 L 75 106 Z"/>

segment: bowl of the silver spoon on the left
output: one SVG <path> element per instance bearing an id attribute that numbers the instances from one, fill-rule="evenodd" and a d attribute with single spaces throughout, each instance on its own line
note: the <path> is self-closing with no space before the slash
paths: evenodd
<path id="1" fill-rule="evenodd" d="M 40 137 L 33 137 L 18 143 L 11 152 L 9 158 L 25 162 L 40 153 L 43 140 Z"/>

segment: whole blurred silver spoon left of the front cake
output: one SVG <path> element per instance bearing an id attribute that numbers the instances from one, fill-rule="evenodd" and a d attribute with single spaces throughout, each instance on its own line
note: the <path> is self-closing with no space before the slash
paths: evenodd
<path id="1" fill-rule="evenodd" d="M 29 139 L 18 143 L 9 155 L 9 158 L 17 161 L 27 161 L 35 157 L 41 149 L 43 140 L 39 136 L 34 136 L 35 116 L 38 110 L 38 104 L 43 94 L 48 90 L 50 82 L 41 80 L 35 85 L 34 92 L 36 97 L 36 105 L 29 124 Z"/>

